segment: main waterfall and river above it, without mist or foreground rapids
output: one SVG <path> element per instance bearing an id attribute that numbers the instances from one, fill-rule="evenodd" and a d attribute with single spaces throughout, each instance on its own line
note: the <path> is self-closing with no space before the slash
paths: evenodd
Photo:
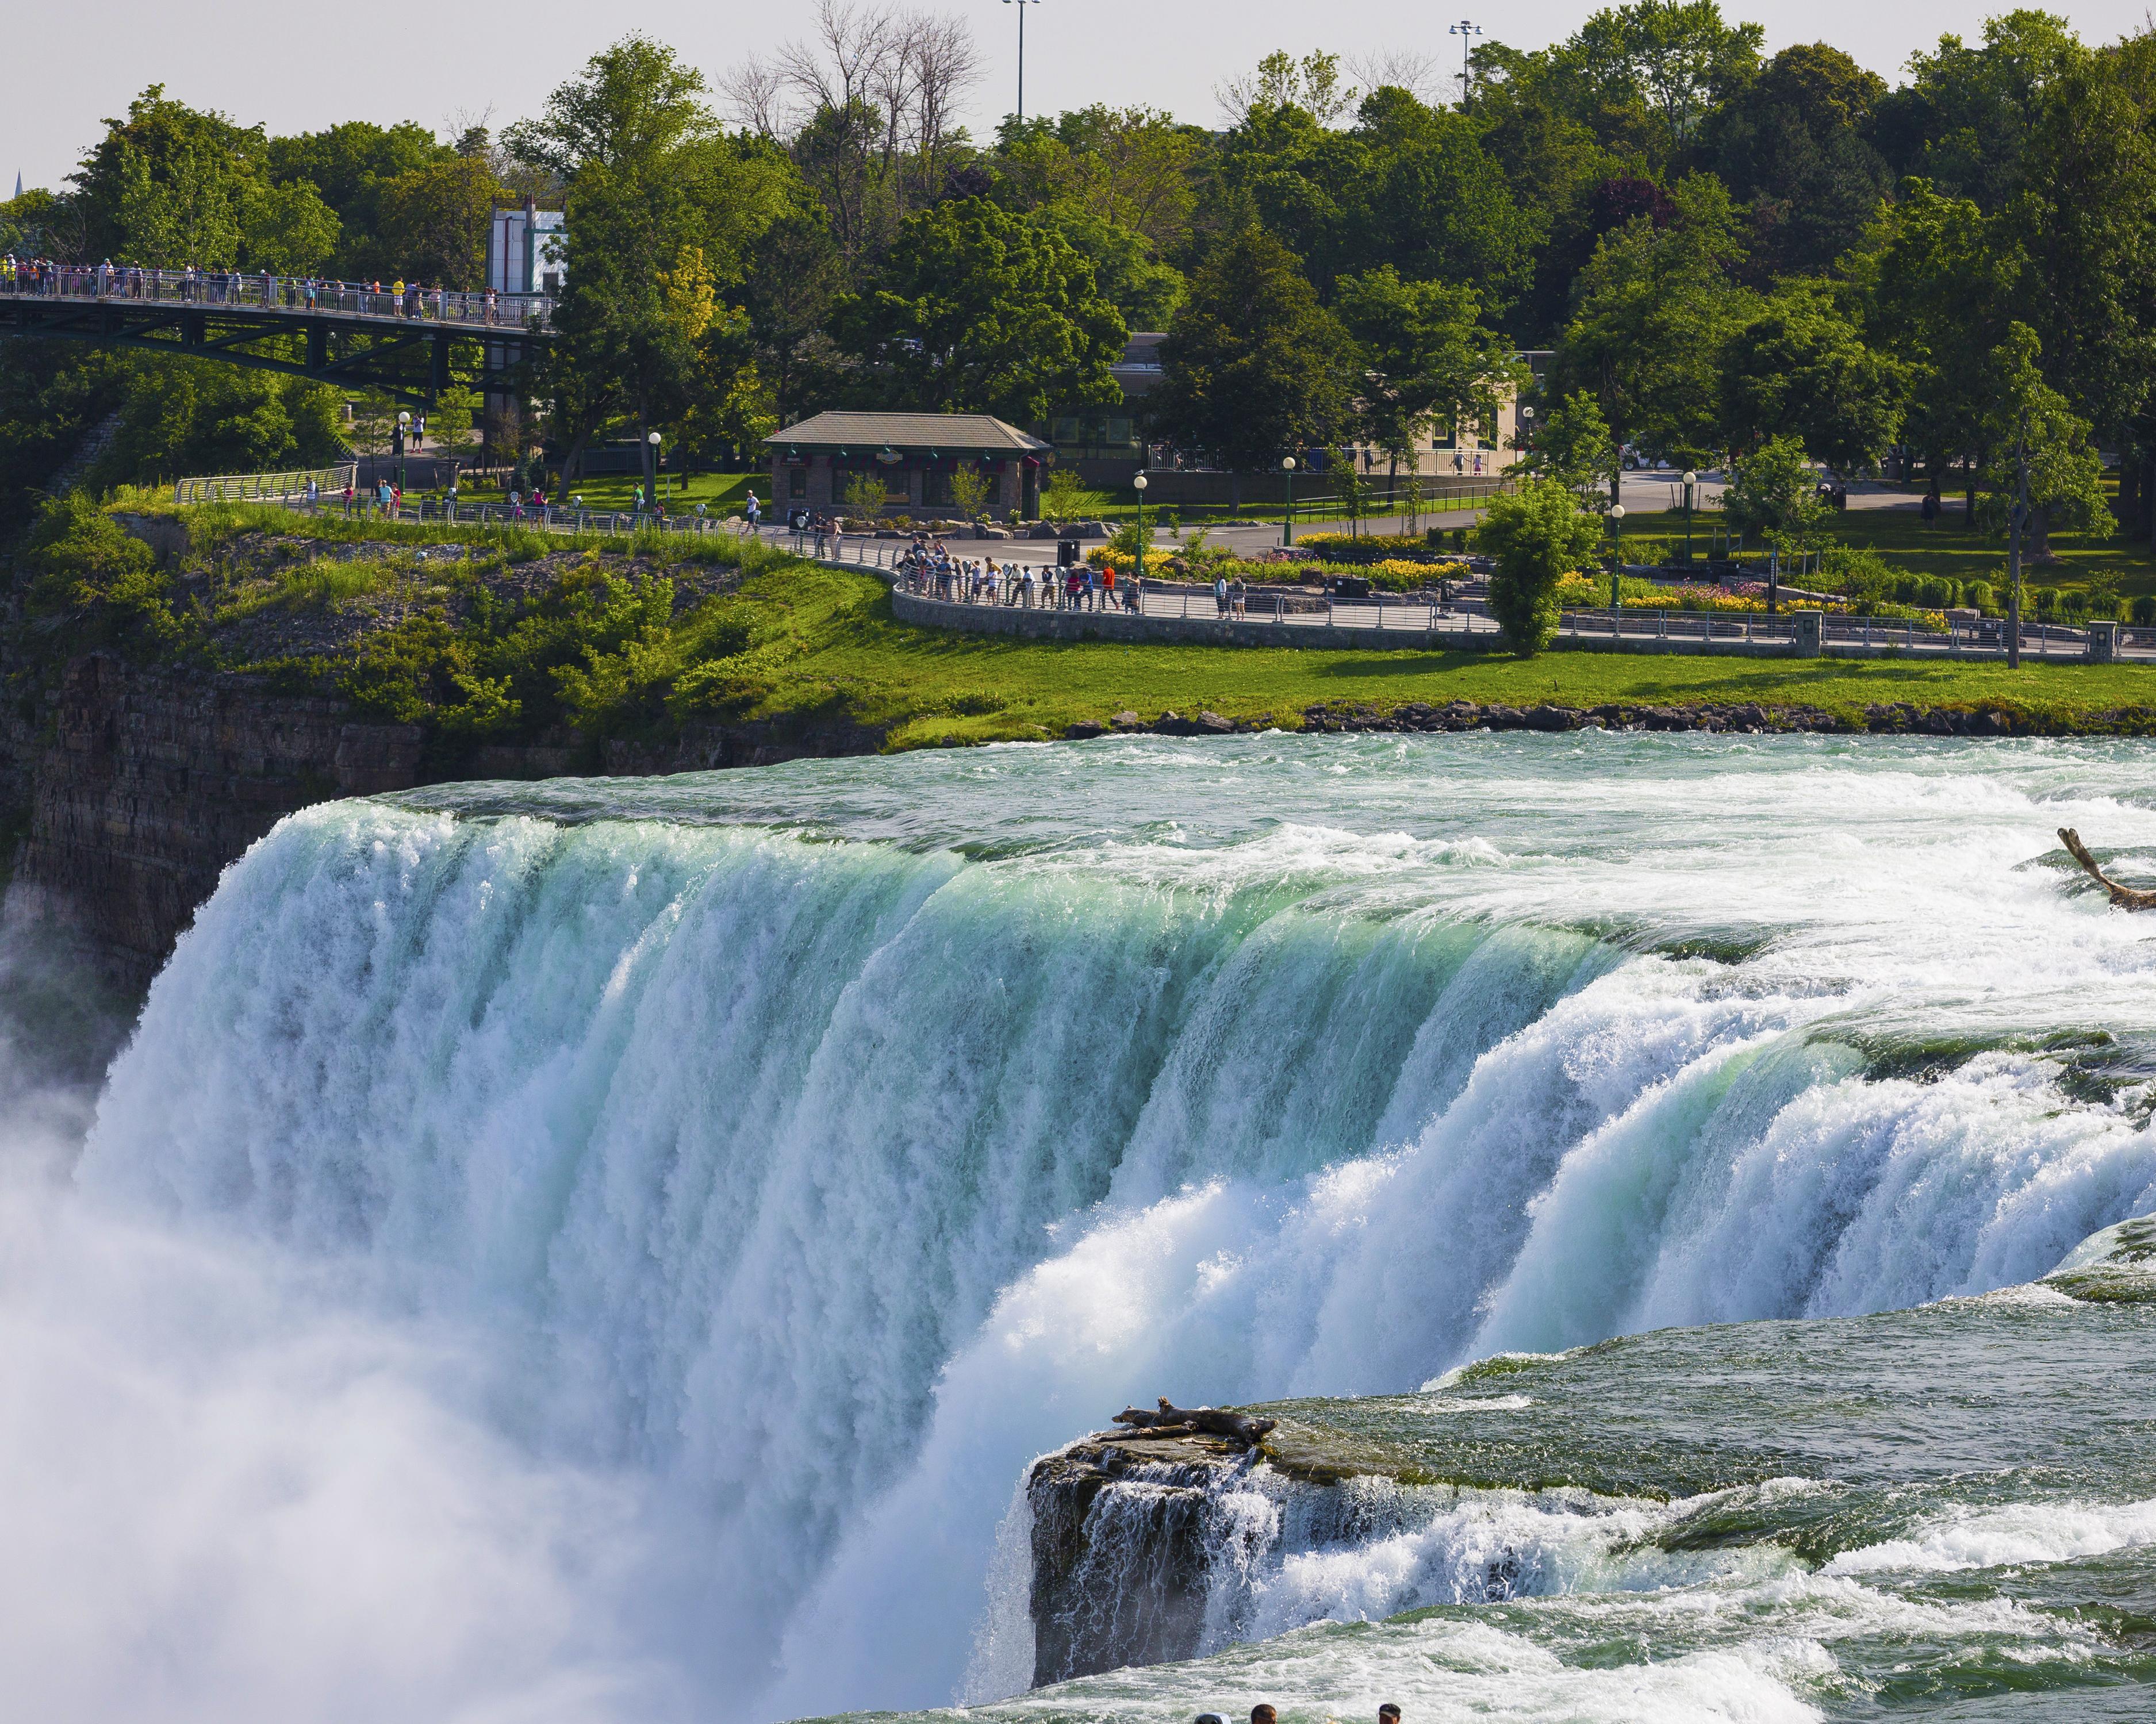
<path id="1" fill-rule="evenodd" d="M 2156 1198 L 2014 1045 L 2156 1024 L 2141 933 L 2020 868 L 2156 840 L 2117 750 L 752 778 L 289 819 L 80 1168 L 476 1338 L 487 1429 L 636 1496 L 645 1651 L 744 1715 L 951 1696 L 1011 1483 L 1132 1396 L 1981 1291 Z M 1921 1039 L 1984 1052 L 1863 1075 Z"/>

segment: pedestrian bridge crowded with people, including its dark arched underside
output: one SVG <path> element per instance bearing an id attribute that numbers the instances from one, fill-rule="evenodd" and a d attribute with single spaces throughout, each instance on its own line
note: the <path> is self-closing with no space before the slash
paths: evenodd
<path id="1" fill-rule="evenodd" d="M 464 386 L 515 394 L 554 338 L 554 302 L 205 269 L 22 267 L 0 336 L 95 340 L 371 388 L 431 405 Z"/>

